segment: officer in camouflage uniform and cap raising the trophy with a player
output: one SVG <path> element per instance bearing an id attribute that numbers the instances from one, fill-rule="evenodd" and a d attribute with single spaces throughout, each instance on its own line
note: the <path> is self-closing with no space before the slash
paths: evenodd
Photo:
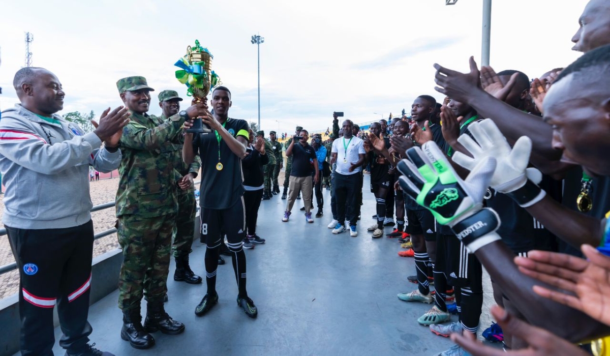
<path id="1" fill-rule="evenodd" d="M 198 104 L 163 122 L 146 114 L 153 89 L 144 77 L 119 79 L 117 89 L 131 112 L 119 143 L 123 154 L 117 191 L 117 236 L 123 249 L 118 283 L 121 338 L 136 349 L 148 349 L 155 343 L 150 332 L 184 332 L 184 324 L 171 319 L 163 308 L 178 213 L 171 141 L 182 134 L 186 119 L 206 111 Z M 140 303 L 144 296 L 148 303 L 143 326 Z"/>

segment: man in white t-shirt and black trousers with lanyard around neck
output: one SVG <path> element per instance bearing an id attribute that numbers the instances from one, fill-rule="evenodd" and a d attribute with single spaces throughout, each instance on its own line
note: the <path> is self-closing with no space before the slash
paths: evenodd
<path id="1" fill-rule="evenodd" d="M 354 123 L 343 122 L 343 137 L 332 142 L 331 164 L 337 164 L 334 176 L 334 191 L 337 200 L 337 226 L 332 233 L 345 231 L 345 219 L 350 220 L 350 236 L 357 236 L 358 221 L 355 205 L 356 191 L 359 185 L 359 172 L 364 163 L 364 144 L 353 136 Z"/>

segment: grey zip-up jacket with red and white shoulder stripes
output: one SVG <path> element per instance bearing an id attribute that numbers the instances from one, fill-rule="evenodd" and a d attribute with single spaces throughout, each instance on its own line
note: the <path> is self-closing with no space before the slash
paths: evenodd
<path id="1" fill-rule="evenodd" d="M 60 115 L 41 118 L 20 104 L 2 112 L 0 172 L 6 187 L 4 225 L 22 229 L 68 228 L 91 219 L 89 165 L 117 169 L 121 151 L 99 148 L 95 133 L 84 134 Z"/>

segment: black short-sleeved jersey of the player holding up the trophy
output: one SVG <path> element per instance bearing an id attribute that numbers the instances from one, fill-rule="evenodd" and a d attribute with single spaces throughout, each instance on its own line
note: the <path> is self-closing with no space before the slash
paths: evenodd
<path id="1" fill-rule="evenodd" d="M 228 118 L 224 128 L 233 137 L 243 136 L 248 140 L 248 123 L 239 118 Z M 218 139 L 215 133 L 203 133 L 193 137 L 193 151 L 201 157 L 201 192 L 199 205 L 207 209 L 228 209 L 243 195 L 242 159 L 231 148 L 220 141 L 220 162 L 217 170 Z"/>

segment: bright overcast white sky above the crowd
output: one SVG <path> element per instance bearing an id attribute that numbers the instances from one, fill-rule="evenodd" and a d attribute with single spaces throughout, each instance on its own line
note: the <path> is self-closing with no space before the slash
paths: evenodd
<path id="1" fill-rule="evenodd" d="M 530 78 L 565 67 L 586 0 L 493 2 L 490 64 Z M 18 102 L 12 80 L 24 66 L 24 32 L 34 34 L 32 65 L 54 72 L 64 110 L 122 104 L 118 79 L 142 75 L 157 93 L 186 87 L 174 62 L 195 39 L 210 49 L 212 68 L 232 92 L 229 116 L 256 122 L 256 45 L 260 34 L 260 117 L 265 131 L 296 125 L 326 129 L 333 111 L 356 123 L 408 112 L 432 95 L 435 62 L 468 69 L 481 59 L 482 0 L 309 1 L 5 1 L 0 27 L 0 108 Z M 185 105 L 183 105 L 185 107 Z M 373 114 L 374 112 L 378 114 Z"/>

